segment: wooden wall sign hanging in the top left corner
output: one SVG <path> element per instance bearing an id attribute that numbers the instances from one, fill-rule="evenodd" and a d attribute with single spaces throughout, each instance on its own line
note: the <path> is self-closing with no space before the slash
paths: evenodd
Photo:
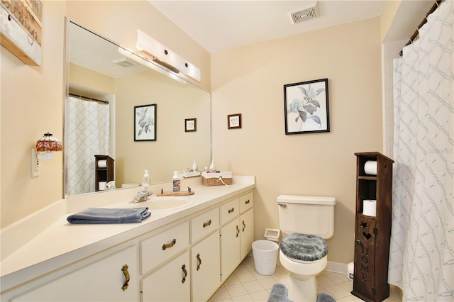
<path id="1" fill-rule="evenodd" d="M 0 43 L 27 65 L 41 65 L 43 1 L 1 0 Z"/>

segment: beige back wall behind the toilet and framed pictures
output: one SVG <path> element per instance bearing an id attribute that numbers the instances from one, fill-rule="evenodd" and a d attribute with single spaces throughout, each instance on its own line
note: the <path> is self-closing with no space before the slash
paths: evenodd
<path id="1" fill-rule="evenodd" d="M 255 175 L 255 239 L 278 228 L 279 194 L 334 196 L 328 260 L 353 261 L 354 153 L 382 149 L 380 19 L 221 52 L 211 65 L 214 160 Z M 283 85 L 322 78 L 331 132 L 285 135 Z M 227 129 L 232 113 L 241 129 Z"/>

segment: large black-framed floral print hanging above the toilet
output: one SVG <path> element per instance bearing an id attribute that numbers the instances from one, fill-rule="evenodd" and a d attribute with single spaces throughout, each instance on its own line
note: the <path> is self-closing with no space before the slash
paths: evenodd
<path id="1" fill-rule="evenodd" d="M 328 79 L 284 85 L 285 134 L 329 132 Z"/>

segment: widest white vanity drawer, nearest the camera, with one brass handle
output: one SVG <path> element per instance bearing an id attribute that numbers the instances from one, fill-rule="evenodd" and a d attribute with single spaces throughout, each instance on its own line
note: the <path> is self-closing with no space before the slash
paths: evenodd
<path id="1" fill-rule="evenodd" d="M 189 246 L 189 221 L 140 242 L 140 269 L 146 274 Z"/>

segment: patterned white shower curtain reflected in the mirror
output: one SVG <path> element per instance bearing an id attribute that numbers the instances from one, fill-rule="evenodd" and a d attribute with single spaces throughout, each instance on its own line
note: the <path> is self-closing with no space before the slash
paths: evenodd
<path id="1" fill-rule="evenodd" d="M 67 110 L 68 195 L 94 192 L 94 155 L 110 155 L 109 104 L 70 96 Z"/>

